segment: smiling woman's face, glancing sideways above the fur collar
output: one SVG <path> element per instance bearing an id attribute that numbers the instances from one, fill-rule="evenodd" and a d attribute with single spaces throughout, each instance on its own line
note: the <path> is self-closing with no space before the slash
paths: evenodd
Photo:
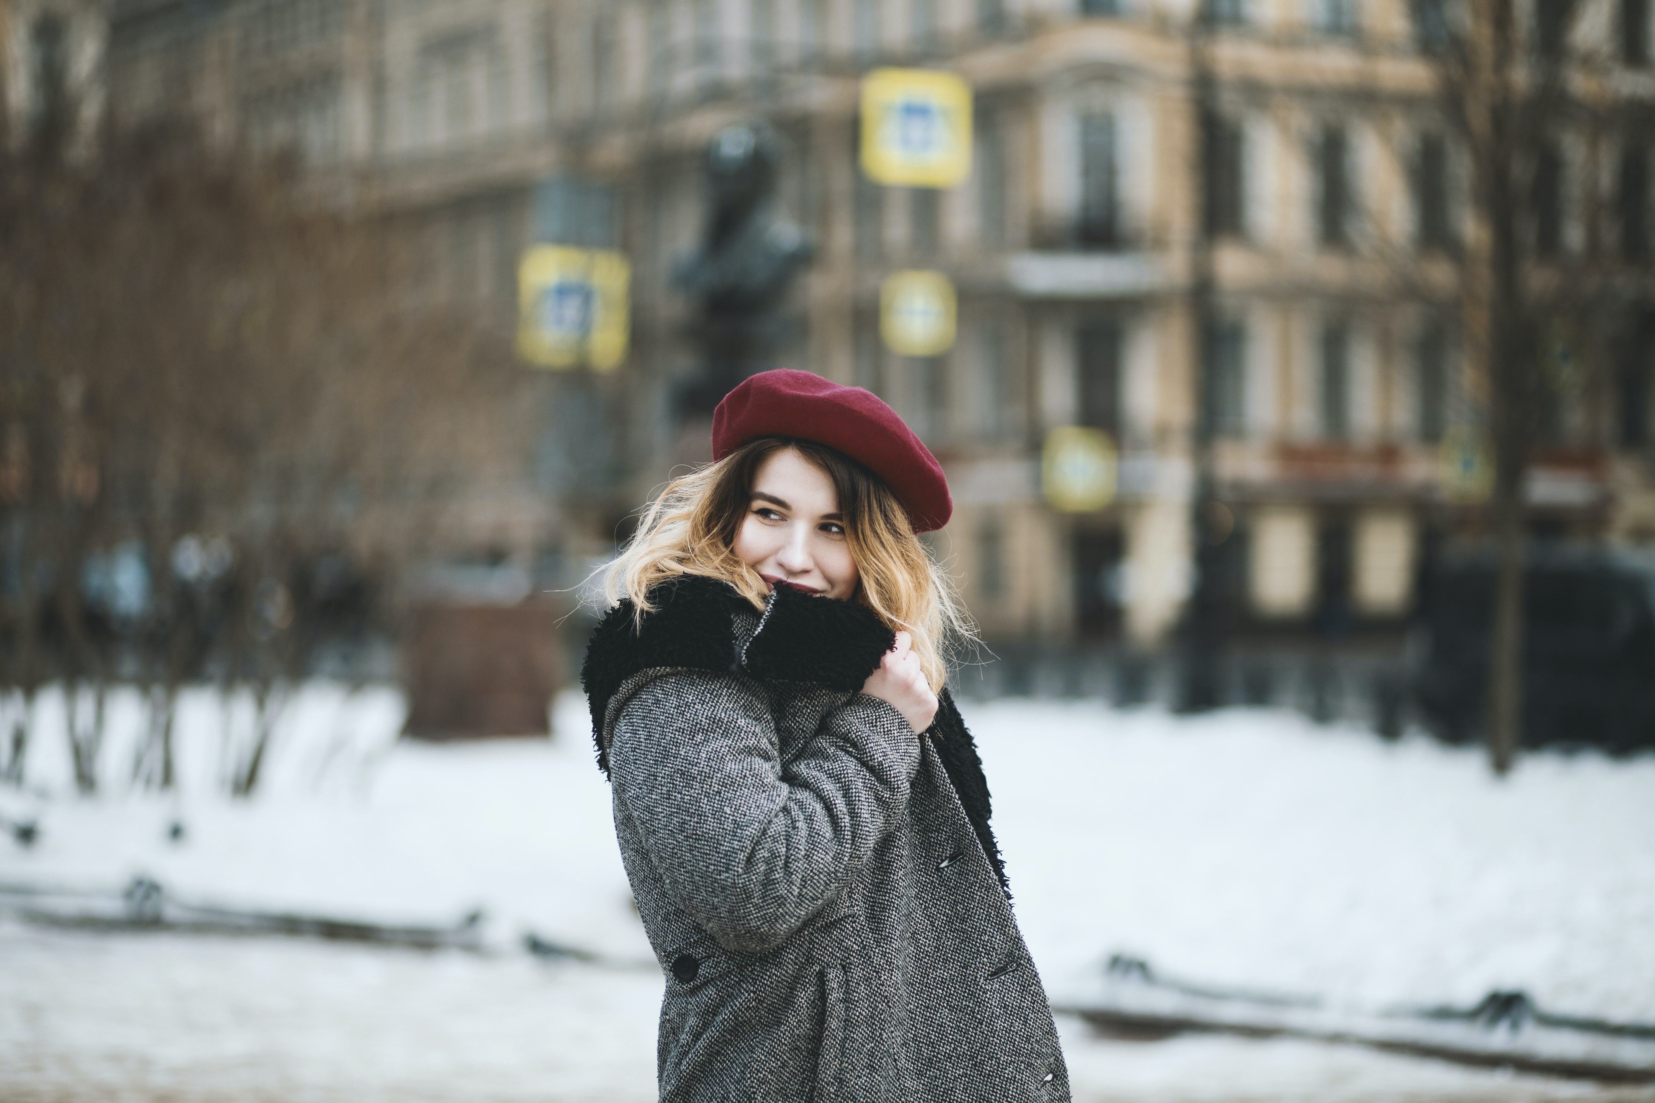
<path id="1" fill-rule="evenodd" d="M 856 561 L 828 473 L 793 448 L 770 453 L 753 476 L 732 546 L 770 589 L 788 582 L 839 600 L 856 594 Z"/>

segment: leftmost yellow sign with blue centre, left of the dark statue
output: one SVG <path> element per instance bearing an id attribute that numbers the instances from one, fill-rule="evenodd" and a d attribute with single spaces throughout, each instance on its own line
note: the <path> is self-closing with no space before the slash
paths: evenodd
<path id="1" fill-rule="evenodd" d="M 518 263 L 518 356 L 540 367 L 626 359 L 632 266 L 611 250 L 536 245 Z"/>

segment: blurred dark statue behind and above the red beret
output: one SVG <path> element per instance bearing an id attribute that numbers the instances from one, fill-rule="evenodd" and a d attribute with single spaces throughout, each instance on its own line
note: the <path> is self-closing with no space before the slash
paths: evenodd
<path id="1" fill-rule="evenodd" d="M 776 311 L 814 248 L 776 203 L 781 141 L 763 124 L 727 126 L 707 147 L 707 225 L 702 246 L 674 271 L 695 299 L 700 370 L 682 399 L 710 413 L 738 382 L 760 372 L 786 339 Z"/>

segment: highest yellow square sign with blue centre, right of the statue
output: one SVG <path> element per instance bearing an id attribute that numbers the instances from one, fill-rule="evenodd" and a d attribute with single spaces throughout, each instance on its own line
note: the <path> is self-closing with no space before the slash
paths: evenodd
<path id="1" fill-rule="evenodd" d="M 955 187 L 971 174 L 971 86 L 935 69 L 862 78 L 862 172 L 875 184 Z"/>

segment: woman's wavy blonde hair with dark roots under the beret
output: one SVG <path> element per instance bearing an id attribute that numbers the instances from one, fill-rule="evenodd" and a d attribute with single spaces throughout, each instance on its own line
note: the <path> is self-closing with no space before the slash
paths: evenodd
<path id="1" fill-rule="evenodd" d="M 953 647 L 975 640 L 953 584 L 914 534 L 890 488 L 856 460 L 811 440 L 761 437 L 669 483 L 644 509 L 637 532 L 604 569 L 607 604 L 629 597 L 642 622 L 655 610 L 650 590 L 693 574 L 728 582 L 755 609 L 763 609 L 770 587 L 732 547 L 753 504 L 760 465 L 784 448 L 798 451 L 832 480 L 859 575 L 851 600 L 874 610 L 892 632 L 907 632 L 925 680 L 932 690 L 942 690 Z"/>

